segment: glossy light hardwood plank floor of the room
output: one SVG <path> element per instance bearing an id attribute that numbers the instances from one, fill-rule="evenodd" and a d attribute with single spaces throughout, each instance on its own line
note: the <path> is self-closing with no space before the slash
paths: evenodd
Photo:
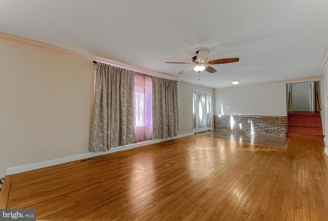
<path id="1" fill-rule="evenodd" d="M 45 220 L 328 220 L 328 157 L 315 140 L 191 136 L 9 180 L 7 208 Z"/>

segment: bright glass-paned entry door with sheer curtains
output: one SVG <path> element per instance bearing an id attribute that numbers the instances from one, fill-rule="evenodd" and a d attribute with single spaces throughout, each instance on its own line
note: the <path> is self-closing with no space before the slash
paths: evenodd
<path id="1" fill-rule="evenodd" d="M 211 94 L 193 91 L 193 132 L 212 129 Z"/>

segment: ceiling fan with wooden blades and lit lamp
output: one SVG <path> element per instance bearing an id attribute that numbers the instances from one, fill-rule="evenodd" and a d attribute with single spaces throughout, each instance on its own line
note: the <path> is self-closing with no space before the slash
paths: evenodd
<path id="1" fill-rule="evenodd" d="M 231 63 L 239 61 L 239 58 L 222 58 L 222 59 L 215 59 L 207 61 L 207 56 L 209 51 L 206 50 L 199 50 L 196 51 L 196 56 L 192 57 L 193 63 L 189 62 L 165 62 L 165 63 L 180 63 L 180 64 L 193 64 L 192 67 L 181 71 L 178 74 L 182 74 L 184 72 L 190 71 L 191 69 L 195 70 L 196 72 L 200 73 L 202 71 L 207 71 L 210 73 L 216 72 L 214 68 L 210 66 L 210 64 L 222 64 L 222 63 Z"/>

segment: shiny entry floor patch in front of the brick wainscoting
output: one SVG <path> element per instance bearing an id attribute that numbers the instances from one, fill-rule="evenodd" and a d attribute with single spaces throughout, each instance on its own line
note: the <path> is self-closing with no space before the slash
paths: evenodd
<path id="1" fill-rule="evenodd" d="M 214 137 L 226 140 L 240 141 L 246 143 L 254 143 L 265 146 L 285 148 L 288 138 L 285 137 L 271 137 L 265 135 L 250 135 L 250 134 L 237 134 L 232 131 L 212 130 L 207 132 L 200 132 L 197 135 Z"/>

